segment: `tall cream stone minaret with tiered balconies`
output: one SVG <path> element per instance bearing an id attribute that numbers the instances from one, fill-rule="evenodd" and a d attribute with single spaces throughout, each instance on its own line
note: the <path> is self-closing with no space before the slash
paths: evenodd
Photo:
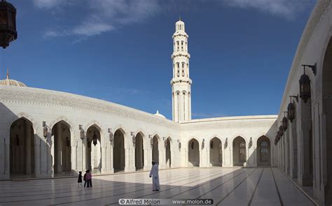
<path id="1" fill-rule="evenodd" d="M 179 19 L 175 23 L 173 34 L 173 78 L 172 107 L 173 121 L 187 122 L 191 120 L 191 79 L 189 78 L 188 34 L 184 30 L 184 22 Z"/>

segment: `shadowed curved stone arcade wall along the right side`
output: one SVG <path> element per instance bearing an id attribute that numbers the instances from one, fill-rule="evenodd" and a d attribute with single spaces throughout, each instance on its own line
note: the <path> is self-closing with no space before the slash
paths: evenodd
<path id="1" fill-rule="evenodd" d="M 311 186 L 321 205 L 332 204 L 332 3 L 319 0 L 300 39 L 278 115 L 279 122 L 290 103 L 298 96 L 302 64 L 310 68 L 311 98 L 307 103 L 292 98 L 295 119 L 288 122 L 285 134 L 277 143 L 279 168 L 296 179 L 300 186 Z"/>

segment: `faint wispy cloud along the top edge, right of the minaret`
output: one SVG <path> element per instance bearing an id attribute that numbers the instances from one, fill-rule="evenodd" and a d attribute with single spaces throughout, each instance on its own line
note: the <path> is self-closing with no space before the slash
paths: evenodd
<path id="1" fill-rule="evenodd" d="M 314 0 L 221 0 L 228 6 L 256 8 L 265 13 L 293 19 L 297 13 L 313 3 Z"/>

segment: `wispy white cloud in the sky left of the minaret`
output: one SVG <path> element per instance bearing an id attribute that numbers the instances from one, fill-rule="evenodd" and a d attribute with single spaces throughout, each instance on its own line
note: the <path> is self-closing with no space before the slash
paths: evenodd
<path id="1" fill-rule="evenodd" d="M 86 37 L 103 34 L 125 24 L 144 22 L 160 10 L 158 0 L 34 0 L 40 9 L 50 10 L 65 4 L 81 3 L 87 8 L 87 15 L 78 19 L 78 24 L 68 28 L 51 28 L 43 33 L 44 38 L 62 36 Z"/>

